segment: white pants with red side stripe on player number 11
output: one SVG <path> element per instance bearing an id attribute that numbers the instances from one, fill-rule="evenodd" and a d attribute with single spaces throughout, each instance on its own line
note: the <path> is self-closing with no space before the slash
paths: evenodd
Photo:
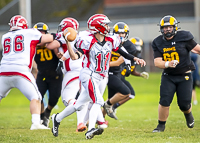
<path id="1" fill-rule="evenodd" d="M 84 89 L 81 89 L 81 93 L 78 100 L 74 104 L 74 107 L 79 110 L 88 101 L 103 106 L 103 93 L 105 91 L 108 78 L 85 69 L 81 71 L 79 78 Z"/>

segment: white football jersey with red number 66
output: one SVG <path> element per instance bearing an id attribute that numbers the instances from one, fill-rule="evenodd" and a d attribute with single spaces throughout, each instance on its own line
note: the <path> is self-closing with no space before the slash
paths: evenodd
<path id="1" fill-rule="evenodd" d="M 32 68 L 36 45 L 42 34 L 37 29 L 10 31 L 2 36 L 1 66 L 19 65 Z"/>

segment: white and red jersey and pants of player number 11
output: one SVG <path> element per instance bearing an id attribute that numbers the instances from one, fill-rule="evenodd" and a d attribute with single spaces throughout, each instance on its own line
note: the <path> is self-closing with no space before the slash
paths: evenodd
<path id="1" fill-rule="evenodd" d="M 86 101 L 92 101 L 103 106 L 102 95 L 108 81 L 111 51 L 112 49 L 117 50 L 120 43 L 116 36 L 105 37 L 105 41 L 100 43 L 93 34 L 84 32 L 86 35 L 78 39 L 77 47 L 85 55 L 80 80 L 89 96 L 86 98 L 80 95 L 79 102 L 77 101 L 75 106 L 79 107 Z M 102 63 L 104 63 L 104 66 L 102 66 Z"/>

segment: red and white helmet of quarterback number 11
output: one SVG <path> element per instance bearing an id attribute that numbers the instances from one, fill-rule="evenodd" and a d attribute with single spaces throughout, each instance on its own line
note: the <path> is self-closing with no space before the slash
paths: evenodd
<path id="1" fill-rule="evenodd" d="M 88 29 L 91 32 L 99 32 L 102 35 L 108 34 L 109 32 L 109 27 L 106 26 L 110 23 L 111 21 L 108 19 L 108 17 L 104 14 L 95 14 L 93 16 L 91 16 L 88 21 Z"/>

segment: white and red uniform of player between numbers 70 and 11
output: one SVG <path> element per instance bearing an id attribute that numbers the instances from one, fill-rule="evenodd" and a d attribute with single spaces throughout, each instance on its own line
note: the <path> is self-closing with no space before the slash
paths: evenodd
<path id="1" fill-rule="evenodd" d="M 66 60 L 63 64 L 63 82 L 62 82 L 62 91 L 61 97 L 62 101 L 65 106 L 68 105 L 68 101 L 70 99 L 75 99 L 77 92 L 80 90 L 80 80 L 79 75 L 82 69 L 82 61 L 83 58 L 78 60 L 72 60 L 70 58 L 69 52 L 67 51 L 66 41 L 62 36 L 63 32 L 59 32 L 57 35 L 57 40 L 61 43 L 61 47 L 59 48 L 60 51 L 64 52 L 64 57 Z M 74 47 L 76 40 L 70 42 L 73 50 L 76 51 L 77 49 Z"/>

